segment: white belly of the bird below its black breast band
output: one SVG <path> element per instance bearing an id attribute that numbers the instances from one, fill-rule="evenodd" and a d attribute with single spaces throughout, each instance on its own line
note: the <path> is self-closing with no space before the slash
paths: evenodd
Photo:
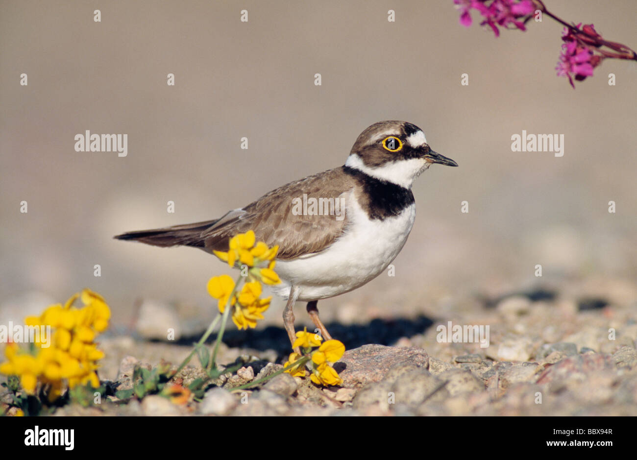
<path id="1" fill-rule="evenodd" d="M 283 280 L 276 294 L 287 298 L 290 285 L 299 287 L 301 301 L 338 296 L 377 277 L 403 248 L 416 217 L 415 203 L 396 217 L 369 220 L 356 203 L 347 208 L 348 226 L 334 244 L 317 254 L 292 261 L 277 261 Z"/>

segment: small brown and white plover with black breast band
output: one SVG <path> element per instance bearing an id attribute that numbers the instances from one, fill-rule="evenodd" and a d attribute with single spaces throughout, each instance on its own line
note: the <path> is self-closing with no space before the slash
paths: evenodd
<path id="1" fill-rule="evenodd" d="M 412 231 L 414 180 L 431 164 L 458 164 L 431 150 L 409 122 L 376 122 L 358 136 L 343 166 L 287 183 L 220 219 L 119 234 L 118 240 L 159 247 L 229 250 L 236 234 L 278 245 L 276 294 L 287 298 L 283 325 L 296 340 L 293 307 L 306 310 L 324 340 L 319 300 L 353 291 L 389 266 Z"/>

